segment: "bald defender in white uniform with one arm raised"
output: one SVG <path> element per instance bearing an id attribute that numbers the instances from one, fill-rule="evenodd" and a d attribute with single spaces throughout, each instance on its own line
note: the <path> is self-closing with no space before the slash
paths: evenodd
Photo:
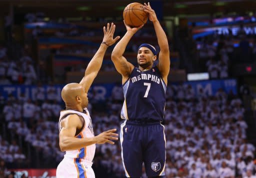
<path id="1" fill-rule="evenodd" d="M 96 77 L 108 46 L 114 44 L 120 37 L 113 39 L 115 25 L 107 23 L 103 27 L 104 37 L 97 52 L 90 60 L 84 77 L 80 83 L 69 83 L 61 91 L 61 97 L 66 109 L 60 112 L 59 147 L 65 151 L 63 160 L 56 170 L 57 178 L 95 178 L 91 169 L 95 153 L 95 144 L 114 144 L 117 140 L 116 129 L 111 129 L 94 136 L 88 110 L 87 92 Z"/>

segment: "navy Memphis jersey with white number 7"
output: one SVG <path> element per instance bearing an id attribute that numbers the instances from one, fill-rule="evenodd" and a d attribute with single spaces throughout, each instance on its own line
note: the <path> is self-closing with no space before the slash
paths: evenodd
<path id="1" fill-rule="evenodd" d="M 146 71 L 134 67 L 122 88 L 122 119 L 163 120 L 166 85 L 156 66 Z"/>

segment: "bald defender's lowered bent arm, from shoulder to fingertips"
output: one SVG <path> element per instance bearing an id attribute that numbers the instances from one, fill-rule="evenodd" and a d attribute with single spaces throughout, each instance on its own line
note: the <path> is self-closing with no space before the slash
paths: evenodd
<path id="1" fill-rule="evenodd" d="M 111 140 L 118 140 L 114 132 L 116 129 L 111 129 L 91 138 L 75 138 L 77 129 L 82 127 L 82 122 L 76 114 L 67 116 L 61 121 L 61 130 L 59 132 L 59 148 L 62 152 L 68 150 L 78 150 L 92 144 L 114 144 Z"/>

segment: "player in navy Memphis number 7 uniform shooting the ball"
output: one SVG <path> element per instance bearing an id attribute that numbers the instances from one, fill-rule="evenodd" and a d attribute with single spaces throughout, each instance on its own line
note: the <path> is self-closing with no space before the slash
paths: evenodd
<path id="1" fill-rule="evenodd" d="M 144 3 L 143 9 L 148 13 L 153 23 L 160 47 L 158 64 L 156 50 L 143 43 L 138 47 L 137 63 L 134 67 L 123 57 L 127 43 L 139 30 L 125 24 L 126 33 L 115 45 L 111 59 L 116 70 L 122 75 L 124 103 L 121 118 L 120 143 L 121 157 L 125 176 L 140 178 L 142 163 L 149 178 L 164 177 L 165 167 L 165 135 L 161 125 L 165 106 L 165 91 L 169 73 L 170 59 L 167 37 L 157 20 L 149 2 Z"/>

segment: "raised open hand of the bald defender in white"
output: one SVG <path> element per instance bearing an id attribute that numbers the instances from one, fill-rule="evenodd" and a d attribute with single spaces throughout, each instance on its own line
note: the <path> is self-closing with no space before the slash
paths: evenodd
<path id="1" fill-rule="evenodd" d="M 103 32 L 104 32 L 104 37 L 103 37 L 103 42 L 105 42 L 108 46 L 111 46 L 114 44 L 120 36 L 114 36 L 114 30 L 115 30 L 115 24 L 111 23 L 111 26 L 109 27 L 109 23 L 107 23 L 106 27 L 103 26 Z"/>

